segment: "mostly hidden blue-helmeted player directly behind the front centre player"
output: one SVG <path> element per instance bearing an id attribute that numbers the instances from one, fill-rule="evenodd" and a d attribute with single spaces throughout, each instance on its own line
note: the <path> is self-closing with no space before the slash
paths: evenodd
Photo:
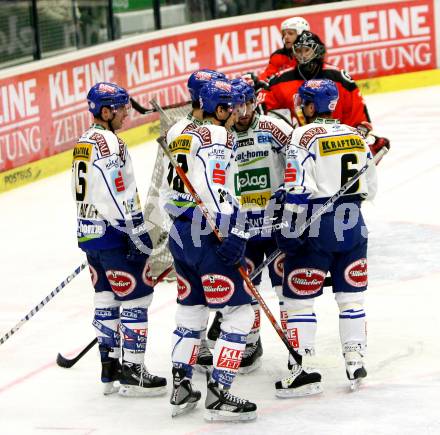
<path id="1" fill-rule="evenodd" d="M 203 124 L 203 111 L 200 109 L 200 90 L 211 80 L 227 81 L 227 78 L 223 73 L 210 69 L 201 69 L 189 76 L 187 86 L 191 95 L 192 110 L 185 118 L 180 119 L 169 128 L 167 132 L 169 143 L 180 134 L 185 134 Z M 169 172 L 169 164 L 169 162 L 164 163 L 165 174 Z M 168 188 L 168 181 L 164 178 L 161 189 L 167 190 Z M 199 352 L 194 367 L 200 371 L 206 371 L 212 368 L 212 354 L 206 343 L 206 326 L 200 331 L 200 340 Z"/>

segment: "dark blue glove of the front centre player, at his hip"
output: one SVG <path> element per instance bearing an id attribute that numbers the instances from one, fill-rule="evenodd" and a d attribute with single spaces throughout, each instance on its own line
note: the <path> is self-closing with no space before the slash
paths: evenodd
<path id="1" fill-rule="evenodd" d="M 246 214 L 236 211 L 231 216 L 228 236 L 217 248 L 217 255 L 227 266 L 233 266 L 244 260 L 246 242 L 249 239 Z"/>

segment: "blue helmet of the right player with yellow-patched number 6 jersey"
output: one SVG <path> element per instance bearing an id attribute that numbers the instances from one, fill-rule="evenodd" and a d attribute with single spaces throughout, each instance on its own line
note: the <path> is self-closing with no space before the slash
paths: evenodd
<path id="1" fill-rule="evenodd" d="M 333 112 L 339 98 L 338 88 L 332 80 L 314 79 L 304 82 L 298 90 L 302 104 L 312 102 L 316 113 Z"/>

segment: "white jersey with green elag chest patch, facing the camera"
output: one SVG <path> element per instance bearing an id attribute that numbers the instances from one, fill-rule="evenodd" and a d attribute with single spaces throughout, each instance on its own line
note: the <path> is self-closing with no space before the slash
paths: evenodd
<path id="1" fill-rule="evenodd" d="M 286 147 L 293 128 L 281 119 L 255 113 L 246 131 L 234 130 L 237 173 L 233 189 L 248 211 L 251 237 L 269 237 L 270 216 L 265 209 L 272 194 L 283 184 Z"/>

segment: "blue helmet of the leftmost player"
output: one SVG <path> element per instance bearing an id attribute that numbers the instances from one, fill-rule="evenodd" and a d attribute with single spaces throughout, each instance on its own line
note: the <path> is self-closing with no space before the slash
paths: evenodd
<path id="1" fill-rule="evenodd" d="M 93 85 L 87 94 L 89 111 L 93 116 L 100 116 L 103 107 L 117 109 L 130 101 L 128 92 L 114 83 L 99 82 Z"/>

